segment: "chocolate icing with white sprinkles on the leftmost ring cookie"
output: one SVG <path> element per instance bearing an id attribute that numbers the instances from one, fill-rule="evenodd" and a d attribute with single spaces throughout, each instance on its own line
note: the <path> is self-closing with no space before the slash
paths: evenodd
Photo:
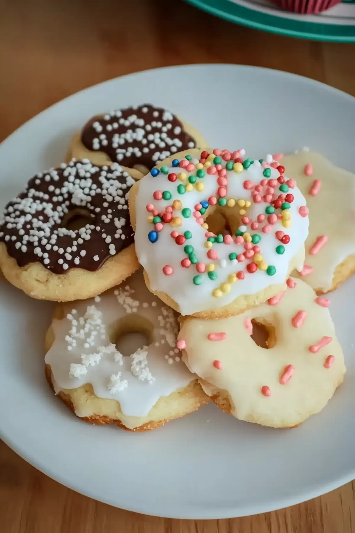
<path id="1" fill-rule="evenodd" d="M 117 163 L 94 166 L 88 159 L 39 173 L 5 207 L 0 241 L 19 266 L 41 263 L 55 274 L 73 267 L 95 271 L 134 242 L 128 211 L 133 178 Z M 72 231 L 68 213 L 89 213 L 92 222 Z"/>

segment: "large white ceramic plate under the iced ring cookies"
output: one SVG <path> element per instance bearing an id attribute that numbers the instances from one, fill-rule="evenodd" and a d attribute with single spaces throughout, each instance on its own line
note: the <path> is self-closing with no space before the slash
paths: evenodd
<path id="1" fill-rule="evenodd" d="M 143 102 L 184 117 L 211 146 L 244 147 L 251 157 L 309 146 L 355 171 L 351 96 L 273 70 L 174 67 L 91 87 L 24 124 L 0 146 L 0 207 L 32 174 L 61 162 L 87 118 Z M 331 295 L 345 381 L 319 415 L 293 430 L 239 422 L 214 405 L 143 434 L 81 423 L 44 378 L 52 304 L 2 281 L 0 291 L 3 438 L 68 487 L 141 513 L 227 518 L 299 503 L 355 477 L 355 278 Z"/>

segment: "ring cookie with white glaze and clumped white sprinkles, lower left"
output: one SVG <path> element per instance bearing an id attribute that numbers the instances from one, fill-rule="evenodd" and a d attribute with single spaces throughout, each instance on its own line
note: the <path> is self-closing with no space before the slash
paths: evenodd
<path id="1" fill-rule="evenodd" d="M 209 398 L 176 348 L 177 314 L 148 291 L 142 271 L 88 301 L 57 306 L 46 336 L 46 376 L 77 416 L 92 424 L 152 430 Z M 149 344 L 122 356 L 117 337 Z"/>

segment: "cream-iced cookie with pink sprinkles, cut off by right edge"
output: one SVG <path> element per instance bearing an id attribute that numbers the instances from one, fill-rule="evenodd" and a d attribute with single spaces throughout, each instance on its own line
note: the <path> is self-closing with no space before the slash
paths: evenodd
<path id="1" fill-rule="evenodd" d="M 307 199 L 309 234 L 299 275 L 317 294 L 336 289 L 355 272 L 355 175 L 301 150 L 282 164 Z"/>

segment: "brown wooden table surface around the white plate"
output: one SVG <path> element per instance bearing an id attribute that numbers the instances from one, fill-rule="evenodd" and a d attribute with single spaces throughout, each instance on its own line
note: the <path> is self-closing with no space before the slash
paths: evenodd
<path id="1" fill-rule="evenodd" d="M 355 44 L 266 34 L 179 0 L 0 0 L 0 141 L 82 88 L 201 62 L 287 70 L 355 95 Z M 1 533 L 351 533 L 354 489 L 348 483 L 304 504 L 232 520 L 153 518 L 81 496 L 0 442 Z"/>

